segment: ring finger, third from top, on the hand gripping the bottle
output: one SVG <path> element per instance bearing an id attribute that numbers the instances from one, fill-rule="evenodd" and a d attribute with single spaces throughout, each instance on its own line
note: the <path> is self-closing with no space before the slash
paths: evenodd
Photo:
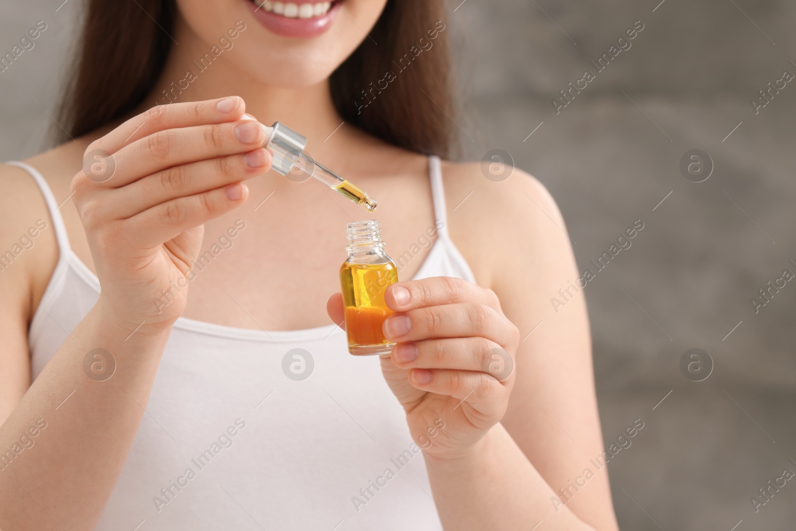
<path id="1" fill-rule="evenodd" d="M 504 381 L 514 369 L 511 354 L 486 338 L 427 339 L 398 343 L 392 349 L 392 361 L 400 369 L 481 371 L 497 381 Z"/>

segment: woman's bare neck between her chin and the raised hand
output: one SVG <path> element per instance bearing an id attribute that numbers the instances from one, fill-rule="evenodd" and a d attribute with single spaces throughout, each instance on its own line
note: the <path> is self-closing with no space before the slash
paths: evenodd
<path id="1" fill-rule="evenodd" d="M 283 122 L 313 144 L 322 143 L 340 125 L 342 118 L 332 103 L 328 80 L 309 87 L 270 86 L 236 65 L 231 57 L 236 53 L 234 45 L 213 57 L 211 49 L 216 46 L 218 53 L 220 46 L 202 40 L 181 16 L 172 35 L 179 45 L 172 45 L 166 66 L 141 111 L 155 104 L 240 96 L 246 102 L 246 112 L 260 123 Z M 201 61 L 205 54 L 213 61 Z"/>

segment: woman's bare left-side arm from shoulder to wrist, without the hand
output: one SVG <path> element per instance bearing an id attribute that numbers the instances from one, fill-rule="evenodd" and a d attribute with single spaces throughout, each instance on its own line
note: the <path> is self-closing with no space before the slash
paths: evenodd
<path id="1" fill-rule="evenodd" d="M 27 328 L 57 262 L 57 243 L 29 175 L 9 167 L 0 178 L 6 217 L 0 245 L 12 254 L 24 249 L 7 256 L 0 271 L 0 526 L 61 529 L 60 521 L 88 529 L 86 518 L 101 513 L 127 456 L 143 413 L 135 400 L 146 404 L 169 329 L 124 341 L 132 330 L 97 307 L 31 385 Z M 112 352 L 118 363 L 108 381 L 84 372 L 95 348 Z"/>

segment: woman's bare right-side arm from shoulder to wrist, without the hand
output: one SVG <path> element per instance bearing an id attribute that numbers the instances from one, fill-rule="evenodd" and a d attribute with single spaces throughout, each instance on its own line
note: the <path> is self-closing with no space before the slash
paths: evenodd
<path id="1" fill-rule="evenodd" d="M 508 318 L 519 329 L 516 378 L 500 424 L 469 451 L 452 458 L 424 452 L 440 517 L 451 530 L 469 529 L 468 523 L 474 529 L 531 529 L 544 521 L 546 529 L 615 531 L 607 468 L 589 460 L 601 455 L 603 443 L 583 292 L 571 288 L 573 296 L 559 312 L 550 303 L 580 276 L 564 221 L 533 178 L 516 171 L 496 184 L 474 170 L 447 187 L 449 198 L 477 192 L 453 215 L 451 230 L 457 243 L 466 242 L 462 250 L 474 258 L 470 262 L 486 271 L 480 281 L 500 301 L 494 319 Z M 484 224 L 485 217 L 494 222 Z M 466 323 L 460 330 L 470 336 L 494 334 L 489 326 L 486 334 L 474 333 Z M 510 350 L 505 342 L 501 346 Z"/>

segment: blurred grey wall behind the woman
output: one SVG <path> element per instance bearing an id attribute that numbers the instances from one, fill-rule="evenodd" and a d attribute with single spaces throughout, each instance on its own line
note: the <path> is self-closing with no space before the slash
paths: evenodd
<path id="1" fill-rule="evenodd" d="M 68 0 L 55 12 L 61 1 L 0 5 L 3 54 L 35 21 L 48 25 L 0 73 L 2 160 L 45 146 L 80 7 Z M 499 148 L 540 179 L 581 270 L 635 220 L 645 224 L 585 288 L 603 435 L 610 443 L 645 422 L 609 465 L 620 526 L 794 529 L 796 482 L 757 513 L 750 498 L 784 468 L 796 472 L 796 282 L 757 314 L 750 299 L 784 269 L 796 273 L 796 80 L 759 114 L 751 105 L 782 72 L 796 74 L 796 3 L 450 6 L 458 123 L 473 139 L 464 137 L 464 157 Z M 590 61 L 635 21 L 644 29 L 631 48 L 556 115 L 551 100 L 596 73 Z M 712 158 L 704 182 L 681 174 L 693 149 Z M 714 363 L 700 382 L 679 368 L 694 348 Z"/>

